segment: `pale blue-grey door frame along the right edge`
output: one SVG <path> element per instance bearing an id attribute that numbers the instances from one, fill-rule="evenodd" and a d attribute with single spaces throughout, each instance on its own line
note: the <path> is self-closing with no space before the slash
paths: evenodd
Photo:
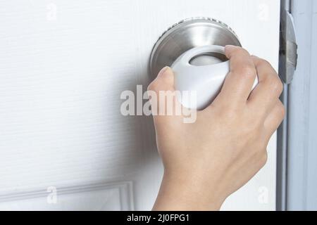
<path id="1" fill-rule="evenodd" d="M 317 210 L 317 3 L 282 0 L 285 10 L 294 21 L 298 60 L 281 96 L 287 113 L 278 129 L 276 209 Z"/>

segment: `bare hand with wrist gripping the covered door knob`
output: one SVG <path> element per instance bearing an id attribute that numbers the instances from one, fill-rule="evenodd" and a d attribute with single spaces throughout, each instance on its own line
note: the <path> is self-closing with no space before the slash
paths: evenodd
<path id="1" fill-rule="evenodd" d="M 225 54 L 230 73 L 196 122 L 154 116 L 164 175 L 153 210 L 219 210 L 266 164 L 268 141 L 285 116 L 282 82 L 270 63 L 245 49 L 226 46 Z M 256 75 L 259 84 L 251 91 Z M 148 89 L 175 91 L 173 71 L 161 70 Z"/>

